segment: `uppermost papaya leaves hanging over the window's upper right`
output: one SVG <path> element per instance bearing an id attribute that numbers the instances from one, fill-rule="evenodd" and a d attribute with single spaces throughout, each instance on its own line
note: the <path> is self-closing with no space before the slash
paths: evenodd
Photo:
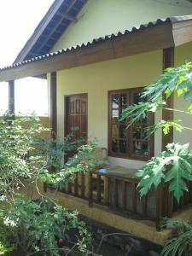
<path id="1" fill-rule="evenodd" d="M 141 102 L 132 104 L 125 109 L 121 119 L 129 117 L 128 126 L 130 126 L 141 117 L 145 117 L 148 112 L 154 113 L 159 109 L 166 108 L 166 102 L 162 100 L 162 95 L 166 95 L 166 99 L 168 99 L 174 91 L 178 96 L 183 95 L 187 101 L 192 103 L 191 79 L 191 62 L 185 63 L 181 67 L 167 68 L 157 82 L 144 88 L 140 96 Z M 189 105 L 189 111 L 192 113 L 192 104 Z M 166 120 L 163 121 L 165 125 Z M 177 125 L 172 125 L 170 121 L 167 122 L 167 127 L 177 128 Z"/>

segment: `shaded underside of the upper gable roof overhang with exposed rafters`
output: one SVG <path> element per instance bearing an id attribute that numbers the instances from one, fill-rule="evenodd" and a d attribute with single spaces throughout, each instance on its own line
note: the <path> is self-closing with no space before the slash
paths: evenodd
<path id="1" fill-rule="evenodd" d="M 87 0 L 57 0 L 40 21 L 14 63 L 30 60 L 50 51 L 61 34 L 77 18 Z"/>

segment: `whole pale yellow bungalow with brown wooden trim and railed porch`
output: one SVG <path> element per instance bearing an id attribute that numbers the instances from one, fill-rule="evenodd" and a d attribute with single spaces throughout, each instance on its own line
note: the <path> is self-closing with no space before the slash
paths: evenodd
<path id="1" fill-rule="evenodd" d="M 172 131 L 164 137 L 158 131 L 146 140 L 143 128 L 172 119 L 167 111 L 128 130 L 119 122 L 125 106 L 137 103 L 143 86 L 185 60 L 192 60 L 191 1 L 55 0 L 14 64 L 0 69 L 0 82 L 9 82 L 9 111 L 14 112 L 15 79 L 47 79 L 55 134 L 64 137 L 76 125 L 79 136 L 97 137 L 99 147 L 108 149 L 109 171 L 81 175 L 65 194 L 58 193 L 62 204 L 160 244 L 170 231 L 157 232 L 154 223 L 160 230 L 161 217 L 186 207 L 189 214 L 190 183 L 178 206 L 166 187 L 140 201 L 137 179 L 131 177 L 167 143 L 189 142 L 189 133 Z M 186 104 L 172 96 L 169 107 L 185 109 Z M 179 113 L 174 118 L 181 119 Z M 188 119 L 183 122 L 191 125 Z"/>

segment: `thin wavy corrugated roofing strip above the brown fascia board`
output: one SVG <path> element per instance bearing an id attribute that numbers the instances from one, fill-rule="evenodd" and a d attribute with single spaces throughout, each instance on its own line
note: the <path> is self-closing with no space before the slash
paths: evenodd
<path id="1" fill-rule="evenodd" d="M 142 31 L 144 29 L 148 29 L 150 27 L 160 26 L 160 25 L 168 23 L 168 22 L 176 23 L 176 22 L 179 22 L 179 21 L 182 21 L 182 20 L 192 20 L 192 15 L 175 16 L 175 17 L 169 17 L 169 18 L 166 18 L 166 19 L 158 19 L 156 21 L 150 21 L 150 22 L 148 22 L 148 24 L 142 24 L 141 26 L 134 26 L 134 27 L 131 28 L 131 30 L 125 30 L 124 32 L 113 33 L 113 34 L 107 35 L 107 36 L 102 37 L 102 38 L 95 38 L 95 39 L 91 40 L 90 42 L 86 42 L 86 43 L 83 43 L 83 44 L 78 44 L 78 45 L 69 47 L 67 49 L 61 49 L 61 50 L 58 50 L 58 51 L 55 51 L 55 52 L 52 52 L 52 53 L 48 53 L 48 54 L 45 54 L 45 55 L 39 55 L 39 56 L 34 57 L 30 60 L 14 63 L 13 65 L 0 68 L 0 71 L 4 71 L 4 70 L 8 70 L 10 68 L 26 65 L 27 63 L 30 63 L 30 62 L 40 61 L 40 60 L 44 60 L 44 59 L 47 59 L 47 58 L 51 58 L 55 55 L 65 54 L 67 52 L 73 51 L 74 49 L 81 49 L 81 48 L 87 47 L 91 44 L 96 44 L 98 42 L 107 41 L 107 40 L 110 40 L 112 38 L 119 38 L 119 37 L 125 36 L 127 34 L 131 34 L 131 33 L 134 33 L 134 32 Z"/>

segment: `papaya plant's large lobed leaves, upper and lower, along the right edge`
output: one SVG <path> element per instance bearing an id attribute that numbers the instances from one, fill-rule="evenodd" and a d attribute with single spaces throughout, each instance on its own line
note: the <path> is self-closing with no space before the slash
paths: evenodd
<path id="1" fill-rule="evenodd" d="M 166 101 L 173 93 L 183 96 L 189 102 L 189 108 L 186 111 L 167 107 Z M 155 113 L 160 109 L 188 114 L 192 120 L 192 62 L 186 62 L 181 67 L 167 68 L 158 81 L 144 88 L 140 102 L 125 109 L 121 120 L 129 118 L 127 124 L 129 127 L 141 117 L 145 118 L 148 112 Z M 181 120 L 174 119 L 161 120 L 148 129 L 150 133 L 162 129 L 166 136 L 171 128 L 177 131 L 192 130 L 183 126 Z M 192 180 L 192 150 L 189 149 L 189 144 L 166 145 L 166 151 L 148 160 L 147 164 L 137 171 L 136 176 L 140 178 L 138 189 L 141 196 L 147 195 L 152 186 L 157 188 L 161 182 L 164 182 L 169 183 L 169 190 L 179 202 L 183 191 L 188 189 L 187 182 Z"/>

